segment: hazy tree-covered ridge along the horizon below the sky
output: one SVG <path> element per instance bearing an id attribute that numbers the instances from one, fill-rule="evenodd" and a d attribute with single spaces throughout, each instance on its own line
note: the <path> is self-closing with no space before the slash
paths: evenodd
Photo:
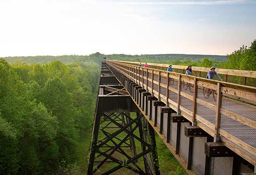
<path id="1" fill-rule="evenodd" d="M 210 60 L 215 60 L 217 62 L 226 62 L 228 58 L 221 55 L 189 55 L 189 54 L 151 54 L 151 55 L 125 55 L 125 54 L 112 54 L 105 55 L 99 52 L 93 53 L 89 56 L 80 55 L 63 55 L 63 56 L 9 56 L 4 57 L 7 62 L 17 62 L 19 60 L 21 63 L 49 63 L 55 60 L 60 60 L 62 63 L 75 63 L 75 62 L 91 62 L 96 63 L 101 62 L 102 58 L 106 57 L 109 60 L 123 60 L 123 61 L 136 61 L 148 63 L 170 63 L 172 61 L 190 61 L 190 62 L 201 62 L 205 57 Z"/>

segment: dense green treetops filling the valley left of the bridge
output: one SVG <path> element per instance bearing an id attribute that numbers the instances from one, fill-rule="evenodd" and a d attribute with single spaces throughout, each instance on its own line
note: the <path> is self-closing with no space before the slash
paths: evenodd
<path id="1" fill-rule="evenodd" d="M 99 69 L 0 59 L 0 174 L 50 174 L 76 158 Z"/>

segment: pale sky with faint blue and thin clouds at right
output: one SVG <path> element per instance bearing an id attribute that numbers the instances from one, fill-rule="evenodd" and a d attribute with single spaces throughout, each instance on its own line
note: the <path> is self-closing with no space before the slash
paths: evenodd
<path id="1" fill-rule="evenodd" d="M 0 57 L 227 55 L 256 39 L 256 0 L 0 0 Z"/>

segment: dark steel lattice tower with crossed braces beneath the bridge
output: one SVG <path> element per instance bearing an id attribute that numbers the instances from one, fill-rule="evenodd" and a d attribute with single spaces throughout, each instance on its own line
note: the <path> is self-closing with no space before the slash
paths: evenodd
<path id="1" fill-rule="evenodd" d="M 121 168 L 160 175 L 154 129 L 103 61 L 87 174 Z"/>

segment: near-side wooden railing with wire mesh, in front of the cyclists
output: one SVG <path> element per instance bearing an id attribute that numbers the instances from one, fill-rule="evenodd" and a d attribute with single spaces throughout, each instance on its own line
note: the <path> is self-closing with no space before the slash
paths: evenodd
<path id="1" fill-rule="evenodd" d="M 221 141 L 252 165 L 256 165 L 256 88 L 130 63 L 109 60 L 106 63 L 174 109 L 177 114 L 186 117 L 194 126 L 205 130 L 214 137 L 214 141 Z M 228 70 L 226 73 L 231 74 Z M 169 78 L 174 80 L 174 84 L 170 84 Z M 190 91 L 182 88 L 186 84 L 192 84 Z M 217 101 L 212 97 L 205 98 L 203 88 L 215 90 Z"/>

